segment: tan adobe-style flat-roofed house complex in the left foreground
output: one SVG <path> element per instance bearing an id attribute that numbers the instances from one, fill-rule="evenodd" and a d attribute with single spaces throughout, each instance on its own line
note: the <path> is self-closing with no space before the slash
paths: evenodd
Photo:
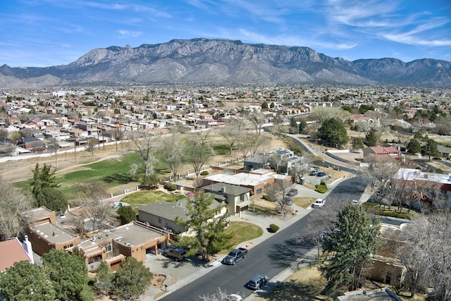
<path id="1" fill-rule="evenodd" d="M 42 256 L 50 250 L 73 252 L 82 250 L 88 271 L 94 271 L 100 262 L 108 264 L 113 271 L 121 267 L 123 259 L 135 257 L 144 262 L 147 254 L 158 254 L 160 247 L 168 245 L 170 234 L 139 221 L 133 221 L 117 228 L 88 233 L 87 240 L 68 231 L 70 226 L 45 207 L 27 211 L 23 216 L 29 221 L 25 229 L 32 250 Z M 58 226 L 58 221 L 61 226 Z"/>

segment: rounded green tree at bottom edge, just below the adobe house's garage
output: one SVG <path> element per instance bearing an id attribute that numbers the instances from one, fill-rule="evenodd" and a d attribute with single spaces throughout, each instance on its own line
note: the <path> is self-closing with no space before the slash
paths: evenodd
<path id="1" fill-rule="evenodd" d="M 137 299 L 149 288 L 153 276 L 135 257 L 127 257 L 116 271 L 111 295 L 118 300 Z"/>

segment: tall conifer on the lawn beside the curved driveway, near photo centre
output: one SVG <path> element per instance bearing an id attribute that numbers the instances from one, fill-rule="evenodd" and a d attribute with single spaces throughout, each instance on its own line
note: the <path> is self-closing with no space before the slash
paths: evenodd
<path id="1" fill-rule="evenodd" d="M 189 249 L 188 255 L 202 254 L 207 261 L 210 255 L 217 254 L 226 247 L 228 239 L 233 234 L 226 234 L 227 216 L 223 214 L 215 217 L 214 209 L 210 205 L 214 195 L 196 192 L 187 202 L 187 219 L 175 219 L 175 223 L 182 225 L 185 231 L 192 231 L 194 235 L 179 236 L 175 244 Z"/>

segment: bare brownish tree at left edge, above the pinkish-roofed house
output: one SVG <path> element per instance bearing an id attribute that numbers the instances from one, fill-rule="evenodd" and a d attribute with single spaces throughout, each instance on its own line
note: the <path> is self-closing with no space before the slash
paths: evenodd
<path id="1" fill-rule="evenodd" d="M 0 240 L 13 238 L 22 228 L 22 212 L 32 208 L 31 197 L 0 178 Z"/>

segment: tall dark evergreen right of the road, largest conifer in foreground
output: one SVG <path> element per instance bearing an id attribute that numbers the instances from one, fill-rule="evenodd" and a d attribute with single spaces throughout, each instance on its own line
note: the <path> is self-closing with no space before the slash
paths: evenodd
<path id="1" fill-rule="evenodd" d="M 330 258 L 321 273 L 327 278 L 326 293 L 346 285 L 356 290 L 364 282 L 365 266 L 378 247 L 379 223 L 373 223 L 361 206 L 347 206 L 338 213 L 333 231 L 326 235 L 323 250 Z"/>

